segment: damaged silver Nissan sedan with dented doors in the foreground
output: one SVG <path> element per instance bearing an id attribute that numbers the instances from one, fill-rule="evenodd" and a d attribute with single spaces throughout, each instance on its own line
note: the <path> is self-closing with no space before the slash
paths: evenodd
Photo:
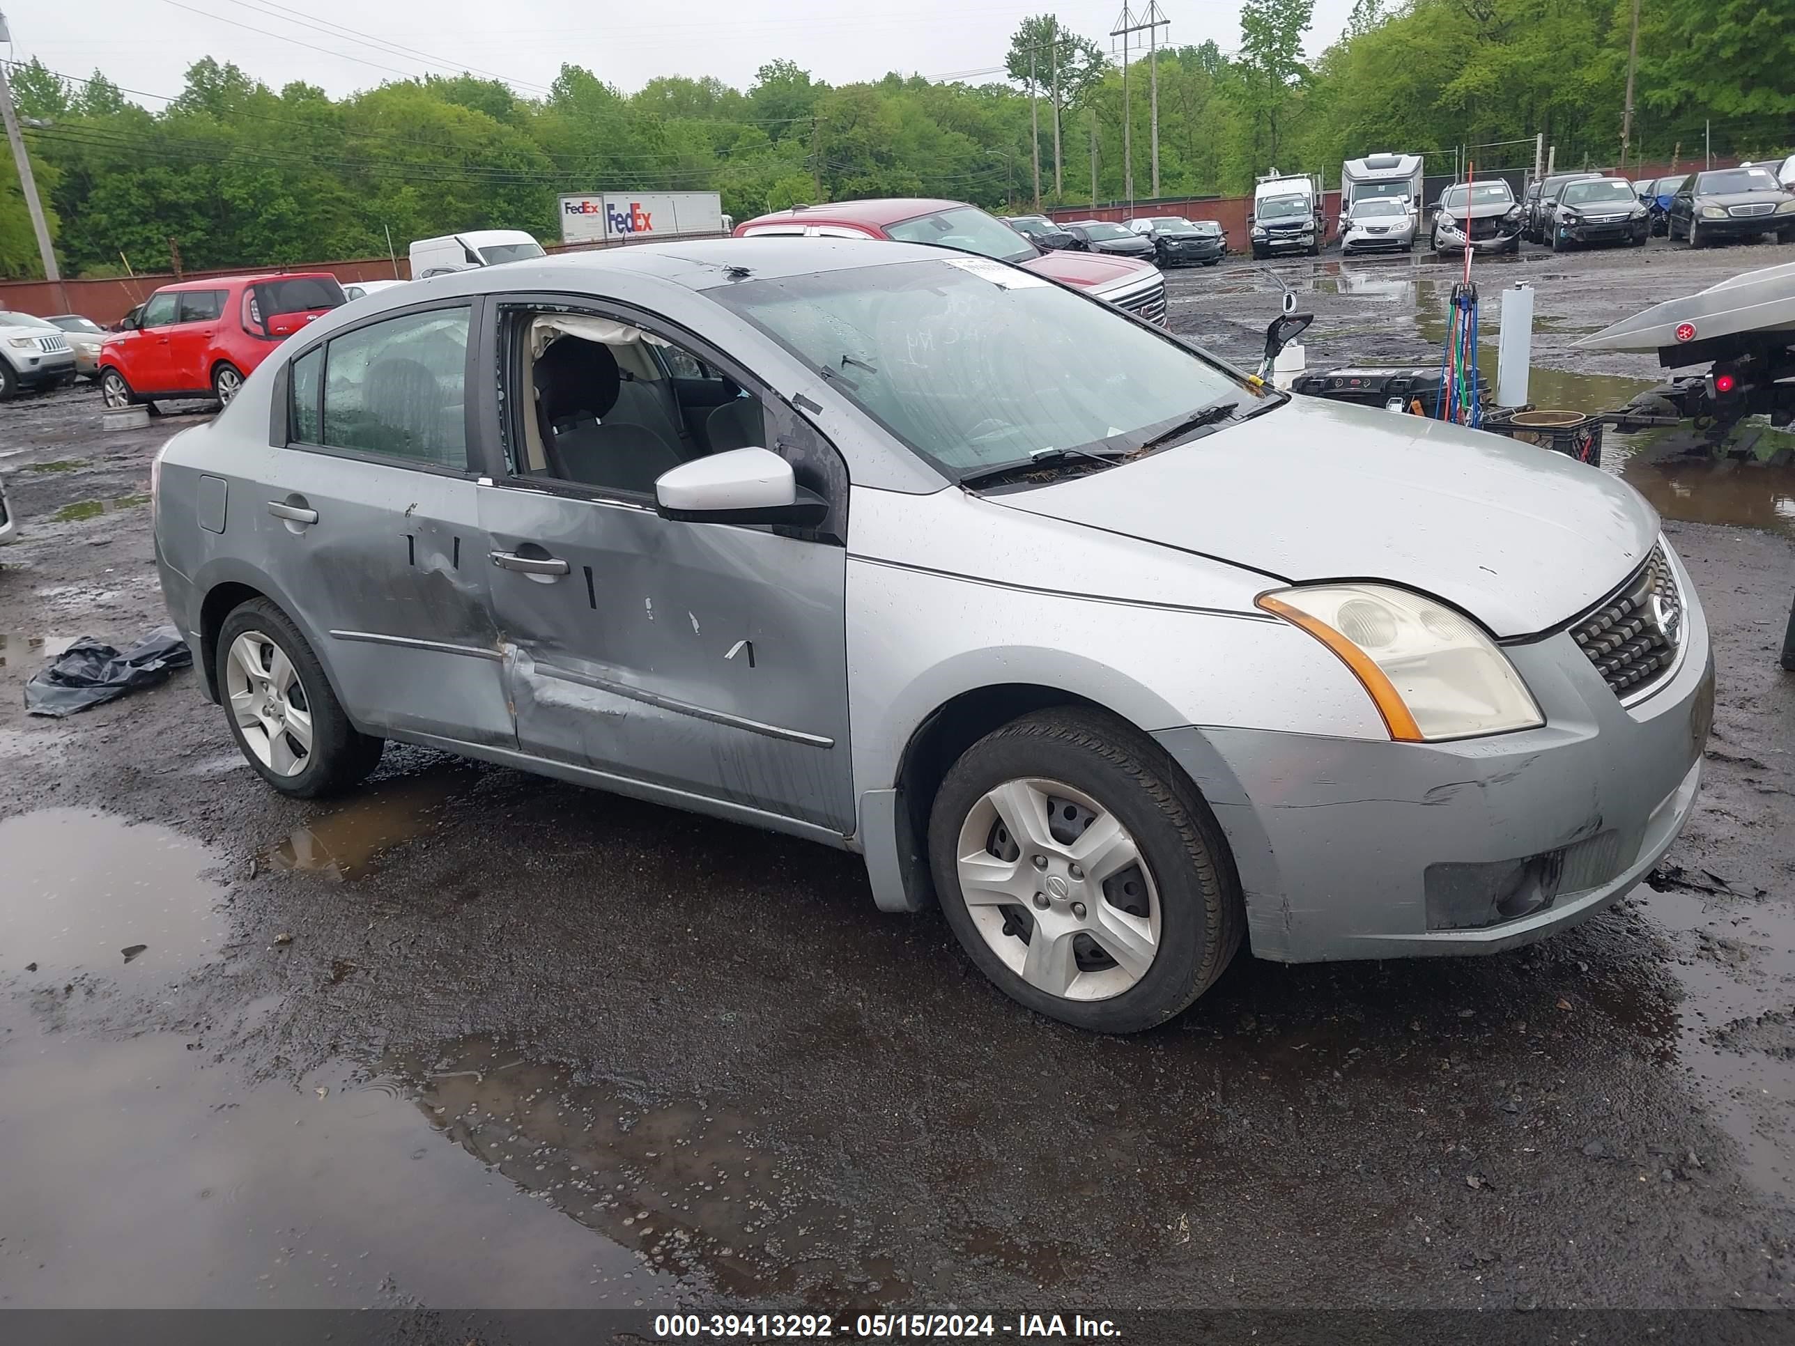
<path id="1" fill-rule="evenodd" d="M 1093 1030 L 1242 942 L 1589 917 L 1684 826 L 1711 718 L 1689 574 L 1623 481 L 935 248 L 395 287 L 153 483 L 169 608 L 275 790 L 402 741 L 804 836 Z"/>

